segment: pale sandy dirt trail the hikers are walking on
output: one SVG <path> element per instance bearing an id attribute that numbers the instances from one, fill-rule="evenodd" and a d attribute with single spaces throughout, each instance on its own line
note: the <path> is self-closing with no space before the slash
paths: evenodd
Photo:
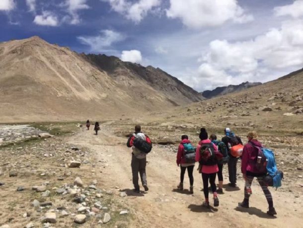
<path id="1" fill-rule="evenodd" d="M 126 138 L 114 136 L 110 132 L 110 125 L 103 125 L 99 135 L 92 131 L 82 130 L 69 141 L 79 146 L 87 147 L 96 154 L 96 164 L 100 161 L 98 178 L 104 187 L 119 186 L 127 193 L 126 202 L 133 209 L 135 220 L 131 227 L 138 228 L 175 228 L 175 227 L 302 227 L 301 204 L 294 203 L 293 195 L 274 191 L 271 193 L 277 218 L 266 215 L 267 202 L 257 182 L 253 182 L 253 195 L 250 199 L 250 209 L 237 209 L 236 205 L 243 199 L 243 181 L 238 180 L 240 189 L 225 189 L 225 194 L 219 195 L 218 208 L 203 209 L 204 199 L 202 178 L 198 171 L 194 171 L 194 194 L 188 191 L 176 191 L 179 182 L 179 167 L 175 163 L 175 153 L 165 151 L 162 146 L 154 145 L 148 155 L 147 177 L 150 191 L 135 194 L 132 192 L 131 149 L 126 147 Z M 107 164 L 107 165 L 106 165 Z M 227 173 L 227 167 L 224 168 Z M 218 180 L 217 180 L 218 181 Z M 225 177 L 225 183 L 227 178 Z M 284 182 L 284 184 L 287 184 Z M 189 186 L 185 176 L 184 187 Z M 118 193 L 117 193 L 118 194 Z M 210 195 L 210 199 L 211 199 Z M 211 202 L 211 205 L 213 202 Z"/>

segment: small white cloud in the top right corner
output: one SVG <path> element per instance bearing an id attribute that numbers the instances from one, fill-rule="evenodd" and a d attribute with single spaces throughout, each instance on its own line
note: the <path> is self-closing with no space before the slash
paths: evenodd
<path id="1" fill-rule="evenodd" d="M 291 15 L 299 18 L 303 16 L 303 0 L 295 0 L 293 4 L 275 7 L 274 11 L 276 16 Z"/>

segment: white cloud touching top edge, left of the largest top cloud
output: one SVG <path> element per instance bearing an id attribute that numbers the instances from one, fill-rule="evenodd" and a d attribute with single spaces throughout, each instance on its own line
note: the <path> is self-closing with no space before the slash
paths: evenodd
<path id="1" fill-rule="evenodd" d="M 139 23 L 149 11 L 160 5 L 161 0 L 139 0 L 133 3 L 129 0 L 102 0 L 109 2 L 111 8 L 124 15 L 127 19 Z"/>

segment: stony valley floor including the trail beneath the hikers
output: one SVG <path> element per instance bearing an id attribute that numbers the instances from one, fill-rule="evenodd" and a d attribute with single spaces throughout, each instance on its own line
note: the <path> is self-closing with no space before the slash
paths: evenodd
<path id="1" fill-rule="evenodd" d="M 240 175 L 240 188 L 234 191 L 225 186 L 218 209 L 201 209 L 203 192 L 197 172 L 194 172 L 194 195 L 176 190 L 177 142 L 182 133 L 187 133 L 196 144 L 199 130 L 196 125 L 143 125 L 143 130 L 156 143 L 148 156 L 150 191 L 140 194 L 131 191 L 131 151 L 125 146 L 126 135 L 134 127 L 130 120 L 102 123 L 99 135 L 76 123 L 35 126 L 56 136 L 0 147 L 1 228 L 167 228 L 201 224 L 219 227 L 216 224 L 223 223 L 225 227 L 236 228 L 300 227 L 303 213 L 301 136 L 268 135 L 267 132 L 260 136 L 266 146 L 274 149 L 278 166 L 285 173 L 283 186 L 277 191 L 271 189 L 278 212 L 277 218 L 272 219 L 266 216 L 266 201 L 256 182 L 253 207 L 247 211 L 236 208 L 243 198 Z M 61 135 L 60 129 L 73 133 Z M 218 135 L 222 136 L 220 132 Z M 187 181 L 186 177 L 185 185 Z"/>

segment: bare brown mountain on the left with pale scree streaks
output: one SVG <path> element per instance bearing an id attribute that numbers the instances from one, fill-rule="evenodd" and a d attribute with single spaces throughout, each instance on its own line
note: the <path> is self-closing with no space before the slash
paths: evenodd
<path id="1" fill-rule="evenodd" d="M 110 66 L 101 70 L 87 60 L 37 36 L 0 43 L 1 122 L 120 117 L 202 99 L 152 67 L 126 63 L 133 70 L 115 69 L 113 76 Z"/>

